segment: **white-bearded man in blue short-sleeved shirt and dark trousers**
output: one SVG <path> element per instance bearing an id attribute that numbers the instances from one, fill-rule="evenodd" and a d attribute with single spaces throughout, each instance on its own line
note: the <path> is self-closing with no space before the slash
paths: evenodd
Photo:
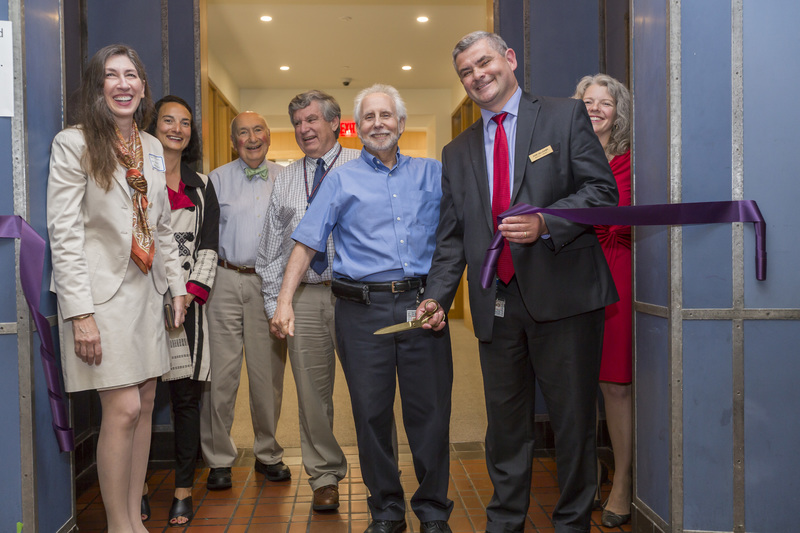
<path id="1" fill-rule="evenodd" d="M 398 151 L 406 110 L 394 87 L 373 85 L 361 91 L 354 117 L 364 144 L 361 157 L 330 172 L 292 234 L 297 244 L 272 323 L 281 336 L 294 335 L 292 296 L 332 233 L 336 339 L 353 404 L 361 473 L 370 492 L 372 522 L 365 533 L 406 529 L 392 451 L 397 382 L 419 481 L 411 507 L 423 533 L 449 532 L 449 332 L 373 334 L 407 321 L 423 299 L 439 222 L 442 167 L 436 160 Z"/>

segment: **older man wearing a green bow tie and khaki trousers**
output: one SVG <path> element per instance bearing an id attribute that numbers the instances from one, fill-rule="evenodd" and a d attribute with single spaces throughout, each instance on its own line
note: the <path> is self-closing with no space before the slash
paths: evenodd
<path id="1" fill-rule="evenodd" d="M 236 391 L 247 364 L 255 470 L 270 481 L 291 477 L 275 440 L 281 413 L 286 344 L 269 333 L 261 280 L 255 263 L 275 177 L 281 166 L 267 161 L 269 127 L 252 111 L 231 123 L 239 159 L 209 174 L 219 200 L 219 264 L 208 300 L 211 384 L 203 402 L 200 443 L 211 468 L 209 490 L 231 487 L 236 446 L 230 438 Z"/>

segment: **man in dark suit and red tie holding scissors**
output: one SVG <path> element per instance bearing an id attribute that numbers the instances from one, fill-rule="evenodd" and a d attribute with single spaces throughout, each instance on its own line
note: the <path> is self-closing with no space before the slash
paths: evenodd
<path id="1" fill-rule="evenodd" d="M 613 206 L 614 177 L 583 103 L 523 93 L 514 77 L 515 53 L 498 35 L 467 35 L 453 50 L 453 63 L 482 120 L 442 152 L 440 222 L 425 296 L 449 309 L 469 266 L 494 484 L 486 530 L 523 531 L 536 380 L 555 433 L 561 489 L 555 530 L 589 531 L 603 308 L 618 299 L 597 237 L 591 226 L 559 217 L 508 217 L 498 228 L 510 254 L 501 256 L 488 289 L 481 288 L 480 267 L 494 219 L 509 205 Z M 440 310 L 426 327 L 443 323 Z"/>

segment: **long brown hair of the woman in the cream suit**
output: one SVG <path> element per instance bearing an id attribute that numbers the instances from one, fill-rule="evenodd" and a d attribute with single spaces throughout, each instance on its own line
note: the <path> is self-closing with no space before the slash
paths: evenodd
<path id="1" fill-rule="evenodd" d="M 81 79 L 78 100 L 78 124 L 86 139 L 86 152 L 83 154 L 84 170 L 94 178 L 98 186 L 110 190 L 114 171 L 117 169 L 117 156 L 114 152 L 116 134 L 114 115 L 106 104 L 103 95 L 105 86 L 106 61 L 117 55 L 127 56 L 136 68 L 136 73 L 144 84 L 144 98 L 133 115 L 133 120 L 141 131 L 150 124 L 153 117 L 153 99 L 144 64 L 136 50 L 124 44 L 111 44 L 101 48 L 92 56 Z"/>

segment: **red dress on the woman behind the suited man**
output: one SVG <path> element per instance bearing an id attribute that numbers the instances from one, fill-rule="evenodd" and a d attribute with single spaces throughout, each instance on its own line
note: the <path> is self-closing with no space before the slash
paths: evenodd
<path id="1" fill-rule="evenodd" d="M 619 205 L 631 205 L 630 150 L 614 157 L 610 164 L 619 190 Z M 619 302 L 606 307 L 600 381 L 630 383 L 633 375 L 631 227 L 595 226 L 594 229 L 619 293 Z"/>

